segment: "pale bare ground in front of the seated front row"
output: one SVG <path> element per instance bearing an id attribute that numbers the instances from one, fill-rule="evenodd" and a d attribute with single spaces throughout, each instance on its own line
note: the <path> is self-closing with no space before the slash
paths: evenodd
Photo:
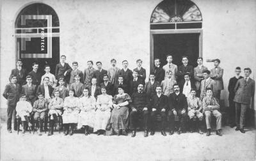
<path id="1" fill-rule="evenodd" d="M 198 133 L 163 137 L 159 132 L 129 136 L 42 136 L 8 134 L 1 124 L 1 160 L 255 160 L 255 132 L 225 127 L 223 136 Z"/>

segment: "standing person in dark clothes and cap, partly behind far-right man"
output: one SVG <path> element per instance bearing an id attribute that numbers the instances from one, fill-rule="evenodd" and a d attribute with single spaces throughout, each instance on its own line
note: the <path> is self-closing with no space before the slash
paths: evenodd
<path id="1" fill-rule="evenodd" d="M 236 82 L 243 78 L 242 76 L 240 76 L 241 73 L 241 68 L 238 66 L 236 67 L 235 70 L 235 77 L 230 78 L 229 82 L 228 82 L 228 101 L 229 101 L 229 123 L 230 123 L 230 127 L 233 128 L 236 126 L 236 107 L 235 107 L 235 103 L 234 103 L 234 97 L 236 95 L 235 93 L 235 87 L 236 87 Z"/>

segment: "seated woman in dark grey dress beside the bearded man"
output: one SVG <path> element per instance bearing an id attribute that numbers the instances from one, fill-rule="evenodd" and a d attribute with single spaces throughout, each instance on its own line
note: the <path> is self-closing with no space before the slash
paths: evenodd
<path id="1" fill-rule="evenodd" d="M 131 102 L 131 97 L 124 93 L 123 86 L 118 86 L 118 94 L 113 98 L 113 111 L 110 118 L 110 126 L 112 132 L 117 135 L 127 135 L 129 108 L 128 105 Z"/>

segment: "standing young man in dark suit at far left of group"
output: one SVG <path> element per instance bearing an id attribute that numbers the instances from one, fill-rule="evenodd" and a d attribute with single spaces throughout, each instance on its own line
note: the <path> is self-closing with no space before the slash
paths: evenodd
<path id="1" fill-rule="evenodd" d="M 10 76 L 10 83 L 5 86 L 4 98 L 7 100 L 7 130 L 9 133 L 12 133 L 12 115 L 13 112 L 16 116 L 16 104 L 20 98 L 20 85 L 17 84 L 17 76 Z M 16 118 L 14 120 L 14 130 L 17 130 L 17 121 Z"/>

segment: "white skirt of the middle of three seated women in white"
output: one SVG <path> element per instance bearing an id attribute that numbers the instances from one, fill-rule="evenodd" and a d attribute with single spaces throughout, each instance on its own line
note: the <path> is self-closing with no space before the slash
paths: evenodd
<path id="1" fill-rule="evenodd" d="M 78 123 L 77 128 L 81 128 L 84 126 L 94 127 L 95 123 L 95 111 L 81 111 L 78 115 Z"/>

